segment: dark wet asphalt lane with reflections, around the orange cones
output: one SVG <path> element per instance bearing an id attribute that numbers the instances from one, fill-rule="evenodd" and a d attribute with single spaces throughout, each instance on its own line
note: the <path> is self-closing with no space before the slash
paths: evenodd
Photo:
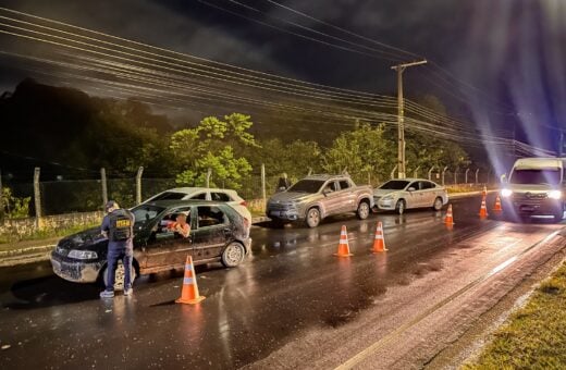
<path id="1" fill-rule="evenodd" d="M 253 254 L 243 266 L 197 267 L 200 294 L 207 297 L 197 306 L 174 304 L 183 271 L 143 276 L 133 297 L 104 301 L 98 298 L 99 287 L 65 282 L 48 262 L 1 268 L 0 345 L 10 347 L 0 350 L 0 362 L 13 369 L 285 367 L 256 361 L 303 343 L 306 333 L 332 337 L 341 328 L 360 324 L 364 314 L 390 309 L 381 301 L 387 292 L 417 286 L 447 270 L 446 256 L 465 249 L 472 257 L 491 252 L 494 261 L 506 258 L 470 242 L 478 236 L 525 233 L 533 244 L 562 226 L 480 220 L 479 201 L 453 202 L 452 231 L 443 224 L 444 212 L 430 210 L 403 217 L 377 213 L 365 221 L 333 218 L 313 230 L 255 226 Z M 372 255 L 378 220 L 390 250 Z M 354 254 L 344 259 L 333 256 L 342 224 Z M 410 296 L 402 299 L 410 305 Z M 308 343 L 303 348 L 293 350 L 308 368 L 311 349 Z M 330 363 L 340 365 L 353 354 Z"/>

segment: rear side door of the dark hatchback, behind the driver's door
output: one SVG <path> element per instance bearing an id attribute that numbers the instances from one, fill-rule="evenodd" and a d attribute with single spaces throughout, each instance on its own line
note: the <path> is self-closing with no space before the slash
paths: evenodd
<path id="1" fill-rule="evenodd" d="M 232 239 L 233 227 L 226 212 L 220 206 L 198 206 L 194 217 L 193 259 L 201 261 L 219 257 Z"/>

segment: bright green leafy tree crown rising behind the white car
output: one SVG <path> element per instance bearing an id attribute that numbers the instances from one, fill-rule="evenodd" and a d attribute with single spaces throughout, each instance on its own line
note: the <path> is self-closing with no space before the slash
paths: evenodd
<path id="1" fill-rule="evenodd" d="M 249 115 L 232 113 L 224 121 L 208 116 L 195 128 L 174 133 L 170 148 L 175 158 L 176 182 L 202 186 L 210 169 L 210 186 L 239 189 L 253 170 L 243 153 L 259 148 L 247 132 L 251 125 Z"/>

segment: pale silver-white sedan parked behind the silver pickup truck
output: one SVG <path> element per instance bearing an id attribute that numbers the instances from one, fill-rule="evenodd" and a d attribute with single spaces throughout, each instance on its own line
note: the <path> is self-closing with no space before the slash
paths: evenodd
<path id="1" fill-rule="evenodd" d="M 373 200 L 377 208 L 395 210 L 398 214 L 410 208 L 431 207 L 439 211 L 448 202 L 448 193 L 444 186 L 426 178 L 399 178 L 373 189 Z"/>

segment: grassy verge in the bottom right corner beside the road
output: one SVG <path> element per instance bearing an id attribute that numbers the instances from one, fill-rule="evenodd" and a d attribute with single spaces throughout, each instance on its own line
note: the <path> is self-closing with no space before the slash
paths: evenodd
<path id="1" fill-rule="evenodd" d="M 464 369 L 566 369 L 566 263 Z"/>

